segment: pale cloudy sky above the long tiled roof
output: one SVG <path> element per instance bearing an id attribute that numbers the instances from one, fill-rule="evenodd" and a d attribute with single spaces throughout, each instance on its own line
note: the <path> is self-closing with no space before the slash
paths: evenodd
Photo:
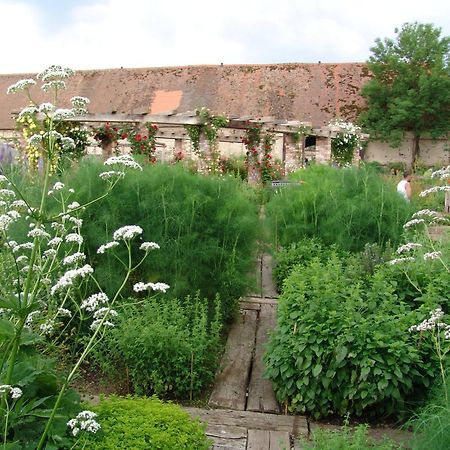
<path id="1" fill-rule="evenodd" d="M 448 0 L 0 0 L 0 73 L 362 62 L 405 22 L 450 35 Z"/>

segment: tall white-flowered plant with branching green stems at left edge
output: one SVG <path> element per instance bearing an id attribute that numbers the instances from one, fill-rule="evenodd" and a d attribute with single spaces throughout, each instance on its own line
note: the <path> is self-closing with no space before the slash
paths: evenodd
<path id="1" fill-rule="evenodd" d="M 72 74 L 70 69 L 52 66 L 38 75 L 42 80 L 42 89 L 57 100 L 58 92 L 65 87 L 65 79 Z M 16 83 L 8 90 L 9 93 L 26 91 L 28 99 L 31 95 L 28 89 L 35 86 L 34 80 L 24 80 Z M 79 315 L 80 322 L 91 321 L 91 334 L 87 339 L 81 355 L 78 357 L 68 375 L 61 383 L 61 389 L 46 422 L 43 434 L 37 448 L 47 445 L 48 432 L 60 410 L 62 400 L 71 381 L 82 362 L 86 359 L 93 346 L 101 339 L 106 327 L 113 326 L 111 319 L 117 314 L 112 306 L 119 298 L 120 292 L 129 280 L 132 271 L 142 264 L 151 249 L 156 248 L 153 243 L 147 243 L 141 250 L 144 252 L 141 260 L 133 265 L 131 261 L 131 240 L 142 234 L 137 226 L 123 227 L 114 234 L 114 241 L 105 244 L 103 251 L 113 249 L 122 244 L 128 249 L 128 262 L 125 264 L 125 275 L 119 290 L 109 301 L 103 292 L 99 292 L 79 303 L 80 286 L 88 279 L 92 279 L 98 286 L 93 272 L 94 269 L 86 263 L 86 255 L 82 252 L 83 237 L 80 230 L 83 220 L 81 212 L 87 206 L 108 195 L 129 170 L 142 170 L 142 167 L 129 155 L 111 157 L 105 161 L 106 171 L 99 176 L 104 181 L 104 193 L 90 200 L 84 205 L 74 201 L 75 191 L 57 181 L 51 186 L 52 161 L 58 156 L 58 142 L 71 146 L 73 141 L 56 131 L 60 121 L 68 117 L 79 115 L 85 111 L 88 100 L 83 97 L 71 99 L 72 108 L 61 109 L 50 103 L 33 106 L 34 113 L 42 117 L 45 127 L 42 133 L 29 138 L 39 151 L 39 158 L 43 161 L 42 192 L 37 207 L 32 206 L 26 195 L 22 193 L 12 180 L 0 175 L 0 239 L 5 245 L 3 253 L 5 274 L 7 280 L 0 286 L 0 301 L 2 319 L 11 324 L 11 332 L 2 341 L 2 355 L 0 356 L 0 377 L 2 386 L 10 386 L 11 381 L 19 376 L 15 372 L 18 358 L 21 355 L 21 342 L 25 329 L 40 335 L 42 340 L 53 339 L 58 342 L 64 338 L 68 325 L 75 315 Z M 30 112 L 30 108 L 25 111 Z M 49 213 L 48 201 L 59 205 L 60 212 Z M 11 239 L 15 222 L 22 220 L 28 225 L 26 238 L 28 241 L 18 243 Z M 142 247 L 142 246 L 141 246 Z M 100 250 L 100 249 L 99 249 Z M 102 253 L 99 251 L 99 253 Z M 159 286 L 153 286 L 158 290 Z M 30 349 L 30 347 L 29 347 Z M 31 350 L 31 349 L 30 349 Z M 38 349 L 34 351 L 38 353 Z M 23 380 L 20 386 L 27 387 L 28 381 Z M 16 389 L 16 388 L 14 388 Z M 33 390 L 31 390 L 33 391 Z M 34 391 L 33 391 L 34 392 Z M 24 401 L 39 404 L 46 399 L 35 399 L 24 390 Z M 11 406 L 6 396 L 2 397 L 0 409 L 8 412 Z M 42 403 L 43 404 L 43 403 Z M 16 422 L 20 419 L 21 411 L 14 411 Z M 37 416 L 38 417 L 38 416 Z M 8 434 L 8 420 L 0 417 L 0 422 Z M 6 437 L 5 437 L 6 439 Z M 6 442 L 6 441 L 5 441 Z"/>

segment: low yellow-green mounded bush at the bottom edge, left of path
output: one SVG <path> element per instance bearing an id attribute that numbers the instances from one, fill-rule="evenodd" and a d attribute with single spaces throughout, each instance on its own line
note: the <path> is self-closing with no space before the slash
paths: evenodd
<path id="1" fill-rule="evenodd" d="M 86 436 L 77 448 L 207 450 L 211 445 L 204 425 L 179 406 L 155 397 L 109 397 L 92 409 L 98 414 L 101 431 Z"/>

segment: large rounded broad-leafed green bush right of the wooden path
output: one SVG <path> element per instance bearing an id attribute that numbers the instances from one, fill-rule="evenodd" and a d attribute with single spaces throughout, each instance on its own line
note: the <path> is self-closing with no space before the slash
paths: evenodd
<path id="1" fill-rule="evenodd" d="M 296 266 L 265 355 L 278 399 L 314 417 L 401 414 L 433 377 L 413 316 L 378 272 L 365 281 L 337 255 Z"/>

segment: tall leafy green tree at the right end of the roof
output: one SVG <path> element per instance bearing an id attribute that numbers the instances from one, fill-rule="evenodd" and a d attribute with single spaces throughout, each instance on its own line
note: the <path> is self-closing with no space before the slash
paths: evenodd
<path id="1" fill-rule="evenodd" d="M 368 67 L 372 78 L 362 88 L 367 109 L 359 122 L 372 137 L 398 147 L 413 135 L 411 162 L 420 139 L 450 131 L 450 38 L 431 24 L 406 23 L 396 38 L 376 39 Z"/>

